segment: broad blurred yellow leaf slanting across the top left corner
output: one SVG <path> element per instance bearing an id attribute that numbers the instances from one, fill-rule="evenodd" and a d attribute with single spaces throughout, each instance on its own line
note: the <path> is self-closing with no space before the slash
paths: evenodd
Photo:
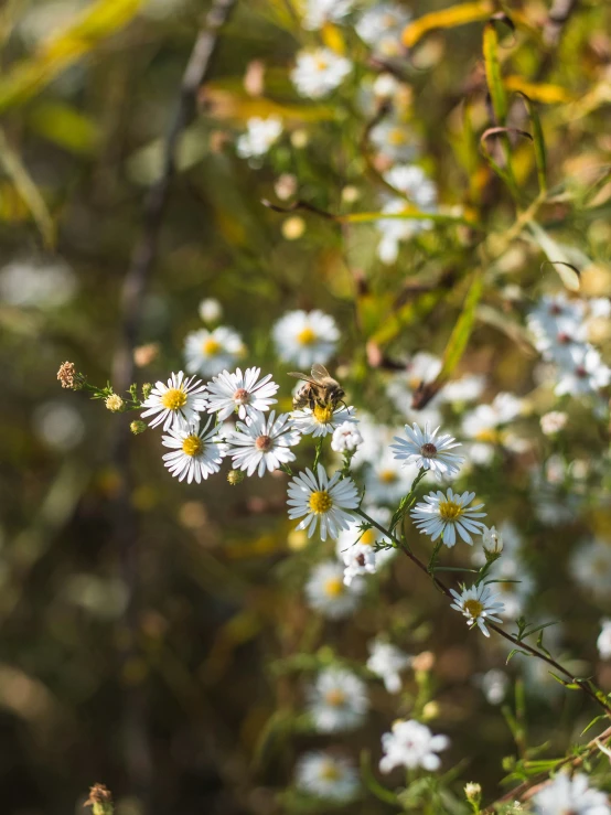
<path id="1" fill-rule="evenodd" d="M 0 112 L 34 96 L 99 41 L 126 25 L 142 1 L 97 0 L 88 6 L 76 22 L 50 36 L 30 58 L 9 68 L 0 79 Z"/>

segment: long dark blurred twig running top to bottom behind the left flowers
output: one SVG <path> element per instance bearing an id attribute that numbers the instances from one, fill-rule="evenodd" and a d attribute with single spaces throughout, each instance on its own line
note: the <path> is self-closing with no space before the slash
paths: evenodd
<path id="1" fill-rule="evenodd" d="M 218 34 L 237 0 L 214 0 L 200 31 L 186 65 L 178 108 L 172 119 L 163 150 L 163 165 L 159 180 L 151 186 L 143 213 L 142 234 L 137 243 L 121 292 L 122 331 L 120 345 L 112 362 L 112 382 L 116 390 L 128 389 L 135 376 L 133 350 L 138 341 L 142 303 L 154 266 L 170 187 L 176 171 L 176 149 L 185 127 L 197 109 L 197 93 L 212 67 Z M 121 577 L 128 594 L 125 616 L 125 645 L 121 650 L 121 672 L 137 656 L 138 615 L 136 587 L 138 575 L 138 517 L 131 504 L 130 432 L 128 422 L 117 422 L 112 462 L 119 478 L 115 500 L 115 539 L 120 557 Z M 147 708 L 141 688 L 128 685 L 124 696 L 124 739 L 126 770 L 132 792 L 142 801 L 144 812 L 150 809 L 152 779 L 151 757 L 147 740 Z"/>

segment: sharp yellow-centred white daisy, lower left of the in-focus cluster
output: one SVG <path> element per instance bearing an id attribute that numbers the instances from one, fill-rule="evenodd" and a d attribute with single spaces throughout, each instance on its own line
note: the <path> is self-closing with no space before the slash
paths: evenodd
<path id="1" fill-rule="evenodd" d="M 171 428 L 162 438 L 162 444 L 173 449 L 163 455 L 165 467 L 179 481 L 186 479 L 187 484 L 192 481 L 201 484 L 202 479 L 205 481 L 217 473 L 225 454 L 225 446 L 212 418 L 201 430 L 199 421 Z"/>

